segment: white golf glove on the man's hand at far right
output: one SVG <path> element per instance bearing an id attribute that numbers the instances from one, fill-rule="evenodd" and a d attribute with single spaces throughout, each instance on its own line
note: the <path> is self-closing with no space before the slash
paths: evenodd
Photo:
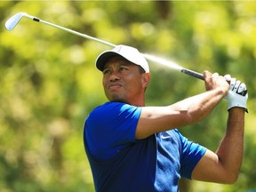
<path id="1" fill-rule="evenodd" d="M 246 108 L 248 98 L 246 85 L 236 80 L 236 78 L 232 78 L 230 75 L 224 77 L 230 84 L 228 94 L 225 96 L 225 99 L 228 100 L 228 110 L 235 107 L 244 108 L 248 113 L 248 109 Z"/>

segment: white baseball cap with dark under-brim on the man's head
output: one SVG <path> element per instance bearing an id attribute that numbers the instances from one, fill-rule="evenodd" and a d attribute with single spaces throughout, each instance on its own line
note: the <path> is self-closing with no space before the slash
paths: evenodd
<path id="1" fill-rule="evenodd" d="M 118 55 L 140 66 L 146 73 L 149 73 L 148 61 L 143 57 L 143 55 L 136 48 L 123 44 L 116 45 L 112 50 L 101 52 L 96 60 L 96 68 L 102 71 L 106 61 L 110 57 Z"/>

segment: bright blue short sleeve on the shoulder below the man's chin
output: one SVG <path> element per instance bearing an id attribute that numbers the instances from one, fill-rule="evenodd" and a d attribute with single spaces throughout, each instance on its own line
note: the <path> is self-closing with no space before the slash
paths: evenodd
<path id="1" fill-rule="evenodd" d="M 95 108 L 84 124 L 84 136 L 93 156 L 107 160 L 135 142 L 141 108 L 120 102 L 107 102 Z"/>

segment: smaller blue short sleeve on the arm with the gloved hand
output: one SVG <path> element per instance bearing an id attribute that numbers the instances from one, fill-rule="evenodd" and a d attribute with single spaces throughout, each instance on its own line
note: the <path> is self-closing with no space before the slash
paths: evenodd
<path id="1" fill-rule="evenodd" d="M 178 131 L 177 131 L 178 132 Z M 179 133 L 180 134 L 180 133 Z M 180 175 L 191 180 L 191 174 L 206 152 L 206 148 L 189 141 L 180 134 L 181 156 L 180 156 Z"/>

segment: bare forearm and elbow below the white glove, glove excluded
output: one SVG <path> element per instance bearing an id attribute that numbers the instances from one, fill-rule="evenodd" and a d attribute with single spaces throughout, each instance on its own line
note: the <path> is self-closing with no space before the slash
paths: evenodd
<path id="1" fill-rule="evenodd" d="M 228 127 L 220 147 L 207 150 L 192 172 L 193 180 L 235 183 L 244 154 L 244 108 L 231 108 Z"/>

